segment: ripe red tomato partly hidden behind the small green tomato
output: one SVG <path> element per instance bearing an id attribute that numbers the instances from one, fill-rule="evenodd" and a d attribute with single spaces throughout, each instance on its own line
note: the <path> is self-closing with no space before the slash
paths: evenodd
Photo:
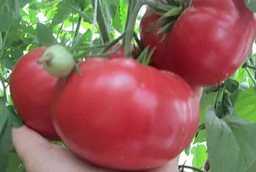
<path id="1" fill-rule="evenodd" d="M 46 47 L 31 50 L 21 57 L 10 78 L 13 104 L 25 125 L 50 140 L 59 140 L 51 120 L 51 99 L 57 78 L 36 64 Z"/>

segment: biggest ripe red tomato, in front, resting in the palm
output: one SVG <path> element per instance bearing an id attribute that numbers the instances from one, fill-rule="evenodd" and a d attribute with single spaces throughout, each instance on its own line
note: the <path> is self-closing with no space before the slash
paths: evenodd
<path id="1" fill-rule="evenodd" d="M 179 76 L 134 59 L 92 58 L 56 84 L 52 115 L 70 150 L 99 166 L 163 166 L 188 147 L 198 103 Z"/>

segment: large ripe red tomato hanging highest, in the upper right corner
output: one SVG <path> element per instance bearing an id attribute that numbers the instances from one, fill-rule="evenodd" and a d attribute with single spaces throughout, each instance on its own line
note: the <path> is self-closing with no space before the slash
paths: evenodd
<path id="1" fill-rule="evenodd" d="M 146 13 L 147 14 L 147 13 Z M 240 0 L 193 0 L 180 15 L 164 43 L 156 31 L 145 34 L 159 15 L 143 17 L 144 46 L 157 46 L 152 66 L 173 71 L 191 85 L 215 85 L 246 60 L 255 38 L 253 12 Z"/>

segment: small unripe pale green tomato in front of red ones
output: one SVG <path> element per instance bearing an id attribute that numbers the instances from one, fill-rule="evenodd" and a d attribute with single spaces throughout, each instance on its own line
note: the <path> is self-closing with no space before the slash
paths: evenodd
<path id="1" fill-rule="evenodd" d="M 68 76 L 76 67 L 72 54 L 61 45 L 48 47 L 37 63 L 42 64 L 50 75 L 56 77 Z"/>

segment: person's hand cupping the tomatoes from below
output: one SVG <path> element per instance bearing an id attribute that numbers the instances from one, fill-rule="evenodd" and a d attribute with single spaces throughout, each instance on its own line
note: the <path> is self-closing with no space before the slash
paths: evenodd
<path id="1" fill-rule="evenodd" d="M 196 97 L 200 101 L 202 88 L 195 89 Z M 27 172 L 114 172 L 102 169 L 82 161 L 72 154 L 68 148 L 53 145 L 51 142 L 32 131 L 25 125 L 19 129 L 12 129 L 13 146 L 26 166 Z M 177 172 L 179 156 L 166 166 L 147 172 Z"/>

